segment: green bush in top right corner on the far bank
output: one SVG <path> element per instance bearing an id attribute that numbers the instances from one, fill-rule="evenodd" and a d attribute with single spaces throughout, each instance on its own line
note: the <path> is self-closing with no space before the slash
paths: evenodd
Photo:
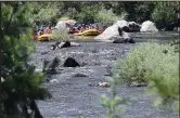
<path id="1" fill-rule="evenodd" d="M 179 9 L 178 2 L 156 2 L 155 9 L 152 12 L 152 19 L 156 23 L 157 27 L 166 27 L 170 23 L 177 21 L 176 11 Z"/>

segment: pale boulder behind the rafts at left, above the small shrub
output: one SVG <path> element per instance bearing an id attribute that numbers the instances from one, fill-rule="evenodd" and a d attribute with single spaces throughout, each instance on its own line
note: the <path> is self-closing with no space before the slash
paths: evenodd
<path id="1" fill-rule="evenodd" d="M 74 26 L 76 21 L 74 19 L 62 19 L 56 23 L 56 29 L 69 29 L 69 27 Z"/>

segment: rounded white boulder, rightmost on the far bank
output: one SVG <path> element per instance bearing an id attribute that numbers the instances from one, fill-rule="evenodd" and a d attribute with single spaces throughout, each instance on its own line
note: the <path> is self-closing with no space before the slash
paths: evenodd
<path id="1" fill-rule="evenodd" d="M 145 21 L 142 23 L 140 31 L 157 32 L 158 29 L 156 28 L 153 22 Z"/>

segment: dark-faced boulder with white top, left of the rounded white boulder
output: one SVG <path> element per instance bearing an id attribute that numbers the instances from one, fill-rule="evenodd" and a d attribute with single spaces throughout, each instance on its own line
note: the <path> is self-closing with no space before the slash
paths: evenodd
<path id="1" fill-rule="evenodd" d="M 128 27 L 130 32 L 140 31 L 141 29 L 141 25 L 137 24 L 136 22 L 129 22 Z"/>

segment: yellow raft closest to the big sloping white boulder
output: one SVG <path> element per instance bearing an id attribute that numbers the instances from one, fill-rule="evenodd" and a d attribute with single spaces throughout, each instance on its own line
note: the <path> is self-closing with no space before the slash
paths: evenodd
<path id="1" fill-rule="evenodd" d="M 98 36 L 100 35 L 100 31 L 97 29 L 87 29 L 82 32 L 75 34 L 77 36 Z"/>

